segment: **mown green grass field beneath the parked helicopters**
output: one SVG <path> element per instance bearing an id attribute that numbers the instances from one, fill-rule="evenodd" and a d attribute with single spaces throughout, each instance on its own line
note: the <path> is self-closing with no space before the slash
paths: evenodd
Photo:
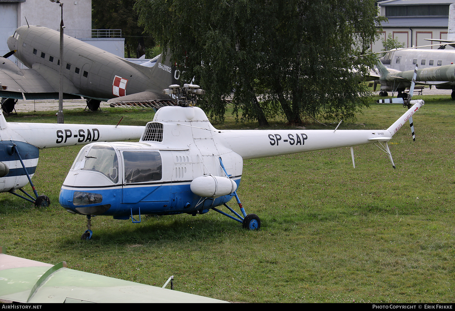
<path id="1" fill-rule="evenodd" d="M 260 231 L 214 211 L 140 224 L 98 216 L 93 239 L 81 241 L 86 218 L 58 204 L 81 146 L 41 150 L 33 181 L 52 205 L 0 194 L 0 244 L 10 255 L 150 285 L 174 275 L 179 291 L 227 301 L 454 302 L 455 104 L 450 95 L 421 98 L 416 141 L 403 126 L 389 143 L 396 169 L 374 145 L 354 147 L 355 169 L 349 148 L 244 161 L 238 194 L 247 213 L 261 217 Z M 339 129 L 384 129 L 404 113 L 374 101 Z M 54 114 L 7 120 L 55 122 Z M 123 125 L 152 118 L 149 111 L 68 111 L 65 123 L 116 124 L 122 115 Z M 230 115 L 214 125 L 258 127 Z"/>

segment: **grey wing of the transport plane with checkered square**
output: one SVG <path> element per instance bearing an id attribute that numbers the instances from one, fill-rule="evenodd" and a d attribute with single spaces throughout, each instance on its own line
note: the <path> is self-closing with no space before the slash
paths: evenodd
<path id="1" fill-rule="evenodd" d="M 25 97 L 26 100 L 58 99 L 58 80 L 52 83 L 55 87 L 46 80 L 46 72 L 49 70 L 43 66 L 20 69 L 11 60 L 0 57 L 0 84 L 2 85 L 0 97 L 17 99 Z M 68 90 L 65 90 L 65 93 L 68 93 Z M 64 95 L 64 99 L 81 98 L 81 96 L 70 94 Z"/>

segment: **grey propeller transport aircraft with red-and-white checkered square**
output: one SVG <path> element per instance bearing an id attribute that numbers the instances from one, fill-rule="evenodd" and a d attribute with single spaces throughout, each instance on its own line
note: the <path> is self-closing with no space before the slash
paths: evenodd
<path id="1" fill-rule="evenodd" d="M 60 33 L 42 26 L 21 26 L 8 38 L 10 52 L 0 57 L 2 109 L 10 113 L 17 99 L 58 99 Z M 7 58 L 20 60 L 20 69 Z M 169 56 L 167 58 L 170 58 Z M 169 100 L 162 89 L 176 84 L 177 67 L 162 56 L 141 65 L 65 35 L 64 99 L 87 100 L 90 110 L 101 101 Z"/>

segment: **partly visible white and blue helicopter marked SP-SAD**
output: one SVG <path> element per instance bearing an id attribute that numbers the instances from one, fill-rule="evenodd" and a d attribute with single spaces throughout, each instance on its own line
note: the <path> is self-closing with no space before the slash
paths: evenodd
<path id="1" fill-rule="evenodd" d="M 117 125 L 13 123 L 7 122 L 0 111 L 0 192 L 9 192 L 36 206 L 48 206 L 49 197 L 39 196 L 31 181 L 38 165 L 39 150 L 93 141 L 137 139 L 145 128 Z M 35 196 L 22 189 L 28 183 Z"/>

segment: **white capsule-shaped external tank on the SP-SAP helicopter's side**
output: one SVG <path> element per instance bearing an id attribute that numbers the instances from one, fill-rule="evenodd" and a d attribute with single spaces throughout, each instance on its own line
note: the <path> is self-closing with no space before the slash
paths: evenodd
<path id="1" fill-rule="evenodd" d="M 237 190 L 237 184 L 229 178 L 205 175 L 195 178 L 190 184 L 191 191 L 205 198 L 227 196 Z"/>

